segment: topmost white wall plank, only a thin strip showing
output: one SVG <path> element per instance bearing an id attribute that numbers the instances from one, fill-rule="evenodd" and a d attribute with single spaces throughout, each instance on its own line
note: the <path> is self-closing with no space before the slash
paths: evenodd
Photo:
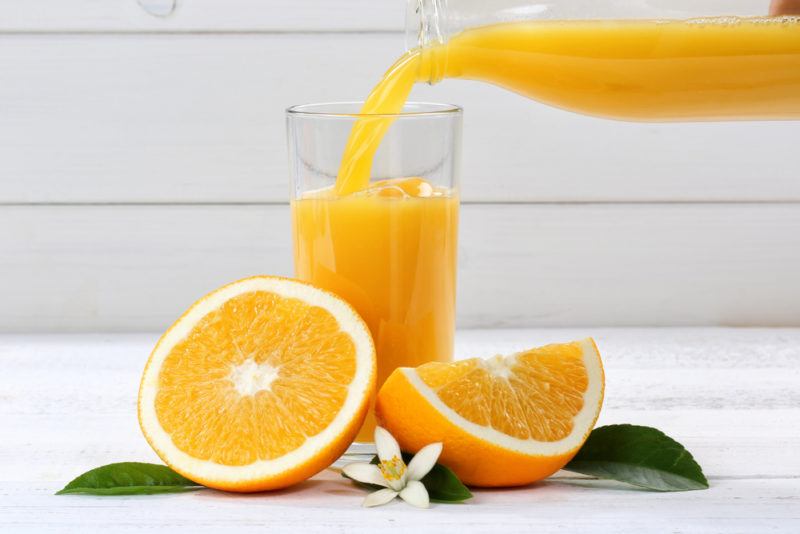
<path id="1" fill-rule="evenodd" d="M 0 11 L 5 15 L 0 18 L 0 31 L 400 31 L 404 27 L 405 3 L 406 0 L 0 0 Z M 768 7 L 766 0 L 703 0 L 699 7 L 691 0 L 642 6 L 594 0 L 538 3 L 547 9 L 533 14 L 550 18 L 752 16 L 766 14 Z M 169 16 L 153 15 L 169 13 L 173 4 L 176 8 Z"/>

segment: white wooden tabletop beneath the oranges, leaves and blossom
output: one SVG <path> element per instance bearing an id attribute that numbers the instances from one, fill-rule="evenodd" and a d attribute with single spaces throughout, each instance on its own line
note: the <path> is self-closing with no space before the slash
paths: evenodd
<path id="1" fill-rule="evenodd" d="M 54 496 L 83 471 L 158 458 L 136 421 L 156 335 L 0 337 L 0 532 L 800 532 L 800 329 L 463 331 L 457 355 L 595 336 L 599 424 L 657 426 L 708 491 L 660 494 L 562 473 L 464 505 L 362 509 L 332 472 L 257 495 Z"/>

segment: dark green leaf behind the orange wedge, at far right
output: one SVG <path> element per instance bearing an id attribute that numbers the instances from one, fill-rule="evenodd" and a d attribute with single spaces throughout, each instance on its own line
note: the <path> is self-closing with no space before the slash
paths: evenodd
<path id="1" fill-rule="evenodd" d="M 703 470 L 689 451 L 660 430 L 647 426 L 594 429 L 564 469 L 656 491 L 708 488 Z"/>

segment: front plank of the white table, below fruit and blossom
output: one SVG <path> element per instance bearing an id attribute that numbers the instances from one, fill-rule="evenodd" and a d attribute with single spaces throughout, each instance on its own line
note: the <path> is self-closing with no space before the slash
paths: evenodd
<path id="1" fill-rule="evenodd" d="M 797 480 L 712 481 L 702 493 L 646 493 L 552 480 L 520 491 L 476 491 L 468 505 L 416 510 L 397 501 L 365 511 L 364 491 L 336 474 L 268 495 L 210 490 L 161 497 L 54 496 L 52 485 L 0 487 L 0 525 L 12 532 L 140 533 L 726 533 L 795 534 Z"/>

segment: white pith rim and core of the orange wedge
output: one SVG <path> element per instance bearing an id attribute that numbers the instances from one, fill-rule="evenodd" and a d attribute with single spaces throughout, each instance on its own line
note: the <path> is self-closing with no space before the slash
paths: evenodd
<path id="1" fill-rule="evenodd" d="M 414 386 L 436 410 L 453 424 L 461 427 L 476 438 L 489 441 L 504 449 L 523 454 L 550 456 L 563 454 L 580 446 L 586 434 L 591 431 L 592 425 L 600 411 L 600 404 L 603 398 L 603 366 L 600 363 L 600 355 L 597 353 L 594 343 L 590 339 L 585 339 L 581 341 L 580 344 L 583 349 L 583 363 L 589 376 L 589 386 L 583 394 L 583 408 L 573 419 L 572 432 L 558 441 L 518 439 L 508 434 L 498 432 L 491 427 L 473 423 L 442 402 L 438 395 L 422 381 L 415 369 L 404 367 L 401 368 L 400 371 L 405 375 L 411 385 Z M 498 362 L 497 357 L 485 360 L 484 366 L 487 366 L 496 376 L 502 376 L 502 374 L 497 373 L 505 373 L 505 369 L 510 369 L 507 363 L 501 364 Z"/>

